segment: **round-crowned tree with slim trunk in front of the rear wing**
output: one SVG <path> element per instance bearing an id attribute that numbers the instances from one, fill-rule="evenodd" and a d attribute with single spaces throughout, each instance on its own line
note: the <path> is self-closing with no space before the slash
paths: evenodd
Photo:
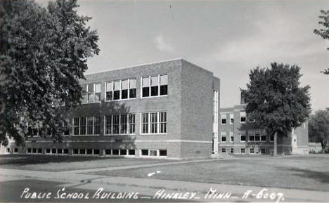
<path id="1" fill-rule="evenodd" d="M 311 112 L 309 86 L 300 87 L 297 65 L 271 63 L 271 68 L 250 71 L 250 83 L 242 96 L 250 120 L 274 136 L 273 155 L 277 155 L 277 136 L 306 122 Z"/>

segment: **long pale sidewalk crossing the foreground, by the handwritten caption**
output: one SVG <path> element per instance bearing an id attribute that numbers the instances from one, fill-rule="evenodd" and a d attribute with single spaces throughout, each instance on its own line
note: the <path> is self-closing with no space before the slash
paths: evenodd
<path id="1" fill-rule="evenodd" d="M 99 170 L 99 169 L 98 169 Z M 79 172 L 81 172 L 79 170 Z M 193 201 L 202 202 L 276 202 L 276 199 L 257 199 L 255 196 L 262 187 L 245 186 L 245 185 L 224 185 L 213 183 L 197 183 L 187 181 L 167 181 L 153 178 L 129 178 L 117 176 L 99 176 L 81 173 L 63 173 L 48 171 L 25 171 L 17 169 L 1 169 L 0 180 L 3 178 L 22 178 L 22 179 L 39 179 L 44 181 L 63 181 L 66 184 L 63 187 L 74 187 L 81 189 L 97 190 L 104 188 L 105 191 L 112 192 L 134 192 L 138 191 L 143 195 L 154 197 L 159 191 L 164 192 L 197 192 L 199 199 Z M 195 180 L 197 181 L 197 180 Z M 203 198 L 209 189 L 217 190 L 217 192 L 231 192 L 234 199 L 212 199 Z M 329 192 L 310 191 L 310 190 L 294 190 L 281 188 L 267 188 L 269 192 L 283 193 L 284 199 L 280 202 L 328 202 Z M 252 194 L 247 199 L 243 199 L 243 195 L 248 190 L 252 190 Z M 209 195 L 208 195 L 209 197 Z M 156 201 L 156 199 L 153 199 Z"/>

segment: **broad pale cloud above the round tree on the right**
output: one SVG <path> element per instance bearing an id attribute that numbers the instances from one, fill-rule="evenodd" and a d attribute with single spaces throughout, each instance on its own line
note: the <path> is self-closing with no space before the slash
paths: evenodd
<path id="1" fill-rule="evenodd" d="M 314 41 L 313 30 L 288 13 L 279 15 L 264 12 L 264 18 L 252 22 L 256 31 L 250 36 L 237 35 L 236 39 L 221 44 L 214 53 L 219 61 L 241 63 L 269 63 L 273 60 L 293 60 L 325 51 L 325 41 Z"/>

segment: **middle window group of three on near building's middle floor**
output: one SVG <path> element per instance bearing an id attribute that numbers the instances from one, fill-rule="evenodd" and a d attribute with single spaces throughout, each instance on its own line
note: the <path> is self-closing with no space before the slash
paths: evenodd
<path id="1" fill-rule="evenodd" d="M 135 114 L 105 116 L 105 134 L 134 134 Z"/>

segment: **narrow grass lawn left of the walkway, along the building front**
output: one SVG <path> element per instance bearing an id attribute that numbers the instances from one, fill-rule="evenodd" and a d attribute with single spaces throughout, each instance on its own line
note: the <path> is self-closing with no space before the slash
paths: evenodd
<path id="1" fill-rule="evenodd" d="M 112 166 L 172 162 L 161 159 L 129 159 L 101 157 L 70 157 L 53 155 L 1 155 L 0 168 L 32 171 L 70 171 Z M 1 170 L 1 169 L 0 169 Z"/>

